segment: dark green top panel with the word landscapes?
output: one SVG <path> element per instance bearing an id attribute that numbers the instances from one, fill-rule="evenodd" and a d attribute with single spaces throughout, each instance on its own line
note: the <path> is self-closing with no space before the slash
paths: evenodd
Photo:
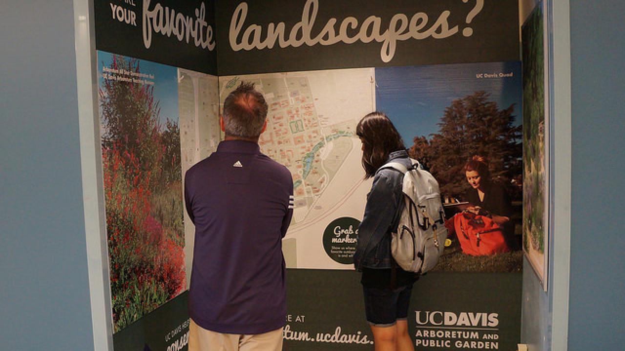
<path id="1" fill-rule="evenodd" d="M 247 11 L 237 12 L 237 7 L 244 2 Z M 481 9 L 476 4 L 476 1 L 465 3 L 460 0 L 217 1 L 217 72 L 220 76 L 227 76 L 354 67 L 517 61 L 518 1 L 484 1 Z M 306 13 L 305 9 L 309 12 Z M 316 16 L 312 16 L 313 12 L 316 12 Z M 385 44 L 382 39 L 384 33 L 407 33 L 407 29 L 400 30 L 399 22 L 395 27 L 391 26 L 392 18 L 402 15 L 409 21 L 415 15 L 416 18 L 426 18 L 424 26 L 417 32 L 429 34 L 425 37 L 416 34 L 419 39 L 397 39 L 386 41 Z M 372 16 L 379 19 L 379 29 L 377 25 L 366 25 L 367 18 Z M 346 19 L 351 17 L 357 23 L 347 26 L 349 20 Z M 319 40 L 289 44 L 289 39 L 302 41 L 302 21 L 306 22 L 306 37 Z M 420 27 L 421 22 L 416 20 L 414 23 Z M 237 24 L 240 26 L 238 31 Z M 407 26 L 407 22 L 404 24 Z M 277 31 L 277 26 L 284 28 Z M 322 44 L 321 34 L 329 31 L 331 37 L 336 38 L 341 33 L 341 26 L 347 28 L 346 36 L 351 38 L 348 40 L 350 43 L 331 41 L 334 44 Z M 272 34 L 279 34 L 267 39 L 270 28 Z M 444 34 L 437 36 L 430 29 Z M 465 30 L 470 31 L 471 35 L 467 33 L 465 36 Z M 292 36 L 291 32 L 297 35 Z M 376 39 L 354 39 L 361 32 L 363 35 L 367 32 L 369 36 L 375 32 Z M 454 34 L 449 34 L 451 32 Z M 259 44 L 263 43 L 260 45 L 262 49 L 254 44 L 255 36 Z M 279 36 L 284 37 L 282 44 L 286 46 L 281 47 L 280 40 L 274 40 L 274 37 Z M 328 39 L 328 34 L 324 34 L 324 38 Z M 353 40 L 356 41 L 351 42 Z M 392 56 L 385 61 L 382 56 L 387 51 L 389 54 L 392 52 Z"/>

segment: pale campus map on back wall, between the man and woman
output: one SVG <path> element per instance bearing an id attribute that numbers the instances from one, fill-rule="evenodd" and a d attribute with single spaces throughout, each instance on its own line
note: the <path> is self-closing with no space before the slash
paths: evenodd
<path id="1" fill-rule="evenodd" d="M 352 268 L 359 222 L 329 222 L 364 212 L 371 180 L 364 180 L 356 124 L 375 109 L 373 79 L 370 68 L 219 77 L 221 101 L 240 81 L 250 81 L 269 106 L 261 151 L 293 178 L 294 212 L 283 240 L 289 268 Z M 335 229 L 342 242 L 332 244 Z"/>

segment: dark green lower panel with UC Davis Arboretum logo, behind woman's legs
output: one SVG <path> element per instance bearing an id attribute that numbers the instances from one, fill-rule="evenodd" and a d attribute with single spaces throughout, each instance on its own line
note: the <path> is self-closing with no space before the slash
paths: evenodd
<path id="1" fill-rule="evenodd" d="M 360 275 L 350 270 L 288 270 L 287 312 L 291 319 L 285 327 L 284 350 L 371 350 L 372 334 L 359 279 Z M 486 350 L 486 342 L 492 343 L 488 344 L 491 349 L 514 350 L 521 330 L 521 289 L 522 275 L 516 273 L 427 274 L 416 282 L 412 293 L 408 315 L 412 340 L 433 345 L 419 345 L 418 350 Z M 417 325 L 417 311 L 422 319 L 435 312 L 435 324 L 444 322 L 445 315 L 448 322 L 454 316 L 456 321 L 452 325 Z M 471 319 L 477 325 L 471 325 Z M 487 325 L 495 321 L 497 325 Z M 426 330 L 428 337 L 423 337 Z M 417 331 L 420 337 L 416 337 Z M 429 337 L 431 332 L 434 337 Z M 465 332 L 466 337 L 451 332 Z M 471 333 L 477 333 L 479 339 Z M 492 335 L 492 339 L 484 339 L 484 335 Z M 444 347 L 446 340 L 449 347 Z M 456 347 L 456 342 L 461 342 L 461 347 Z"/>

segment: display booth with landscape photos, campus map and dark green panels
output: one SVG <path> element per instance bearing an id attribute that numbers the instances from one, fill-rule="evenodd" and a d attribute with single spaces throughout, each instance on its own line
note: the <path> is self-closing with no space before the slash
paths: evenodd
<path id="1" fill-rule="evenodd" d="M 417 349 L 516 349 L 523 250 L 546 250 L 544 235 L 523 244 L 523 151 L 534 171 L 548 162 L 544 115 L 541 125 L 523 104 L 534 100 L 522 92 L 517 0 L 96 0 L 94 14 L 115 350 L 186 349 L 194 228 L 184 172 L 216 149 L 221 104 L 241 81 L 269 105 L 261 151 L 293 177 L 284 349 L 372 349 L 352 265 L 371 187 L 355 127 L 372 111 L 439 180 L 448 217 L 469 202 L 471 157 L 487 160 L 506 197 L 504 250 L 476 254 L 456 230 L 416 282 Z M 541 66 L 541 52 L 524 52 Z M 544 72 L 532 74 L 539 89 Z M 532 181 L 544 196 L 544 179 Z M 531 210 L 538 226 L 544 211 Z"/>

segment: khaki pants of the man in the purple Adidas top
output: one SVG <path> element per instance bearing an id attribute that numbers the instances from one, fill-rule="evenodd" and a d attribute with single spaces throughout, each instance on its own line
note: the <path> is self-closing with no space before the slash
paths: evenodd
<path id="1" fill-rule="evenodd" d="M 189 324 L 189 351 L 282 351 L 282 328 L 264 334 L 241 335 L 211 332 Z"/>

